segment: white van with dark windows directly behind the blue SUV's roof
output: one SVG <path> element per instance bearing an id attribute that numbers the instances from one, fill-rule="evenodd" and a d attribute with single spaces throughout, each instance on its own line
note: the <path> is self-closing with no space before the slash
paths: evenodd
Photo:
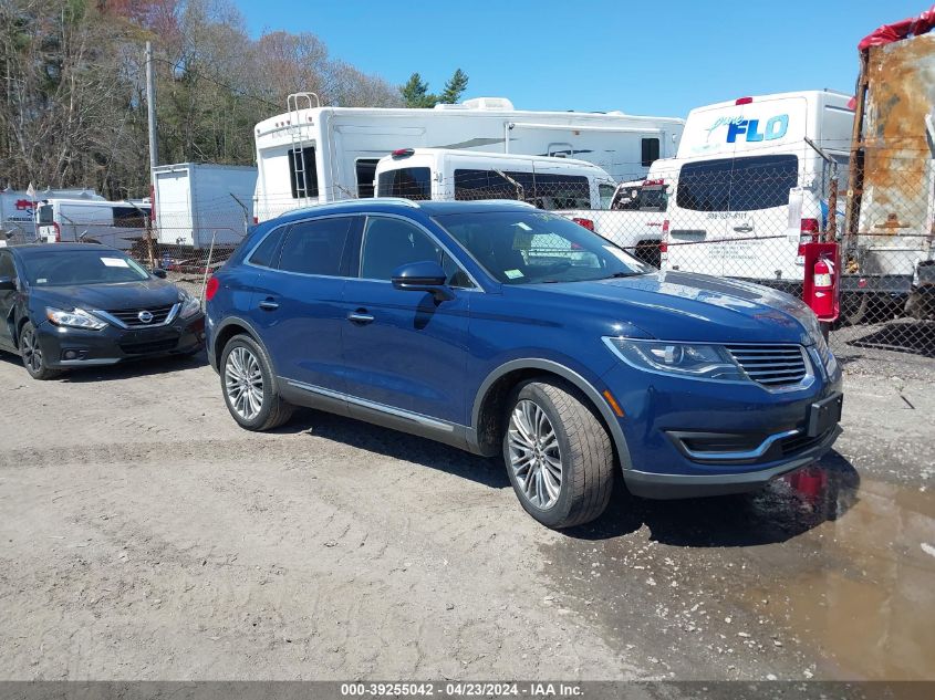
<path id="1" fill-rule="evenodd" d="M 606 208 L 616 184 L 584 160 L 402 148 L 376 164 L 374 186 L 377 197 L 519 199 L 540 209 L 561 210 Z"/>

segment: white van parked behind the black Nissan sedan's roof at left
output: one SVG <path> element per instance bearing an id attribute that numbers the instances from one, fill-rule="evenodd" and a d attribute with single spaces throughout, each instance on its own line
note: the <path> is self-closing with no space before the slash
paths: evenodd
<path id="1" fill-rule="evenodd" d="M 37 212 L 37 233 L 45 243 L 93 242 L 129 250 L 146 234 L 149 206 L 104 199 L 42 201 Z"/>

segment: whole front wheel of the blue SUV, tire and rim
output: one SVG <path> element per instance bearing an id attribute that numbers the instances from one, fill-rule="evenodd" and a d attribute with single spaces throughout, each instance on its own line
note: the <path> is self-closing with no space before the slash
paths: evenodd
<path id="1" fill-rule="evenodd" d="M 607 506 L 614 453 L 586 399 L 552 379 L 518 386 L 503 430 L 503 461 L 523 509 L 548 527 L 590 522 Z"/>

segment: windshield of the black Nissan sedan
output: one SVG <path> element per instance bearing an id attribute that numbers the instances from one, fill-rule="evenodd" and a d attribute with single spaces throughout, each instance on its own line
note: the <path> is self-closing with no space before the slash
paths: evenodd
<path id="1" fill-rule="evenodd" d="M 149 273 L 115 250 L 48 250 L 23 255 L 27 282 L 34 286 L 141 282 Z"/>

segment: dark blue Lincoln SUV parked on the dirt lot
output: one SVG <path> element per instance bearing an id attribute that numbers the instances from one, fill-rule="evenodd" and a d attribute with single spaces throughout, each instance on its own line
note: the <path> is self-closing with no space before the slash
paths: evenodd
<path id="1" fill-rule="evenodd" d="M 551 527 L 598 518 L 617 476 L 648 498 L 750 491 L 840 433 L 841 370 L 801 302 L 659 272 L 518 202 L 293 211 L 206 296 L 240 426 L 310 406 L 500 452 Z"/>

